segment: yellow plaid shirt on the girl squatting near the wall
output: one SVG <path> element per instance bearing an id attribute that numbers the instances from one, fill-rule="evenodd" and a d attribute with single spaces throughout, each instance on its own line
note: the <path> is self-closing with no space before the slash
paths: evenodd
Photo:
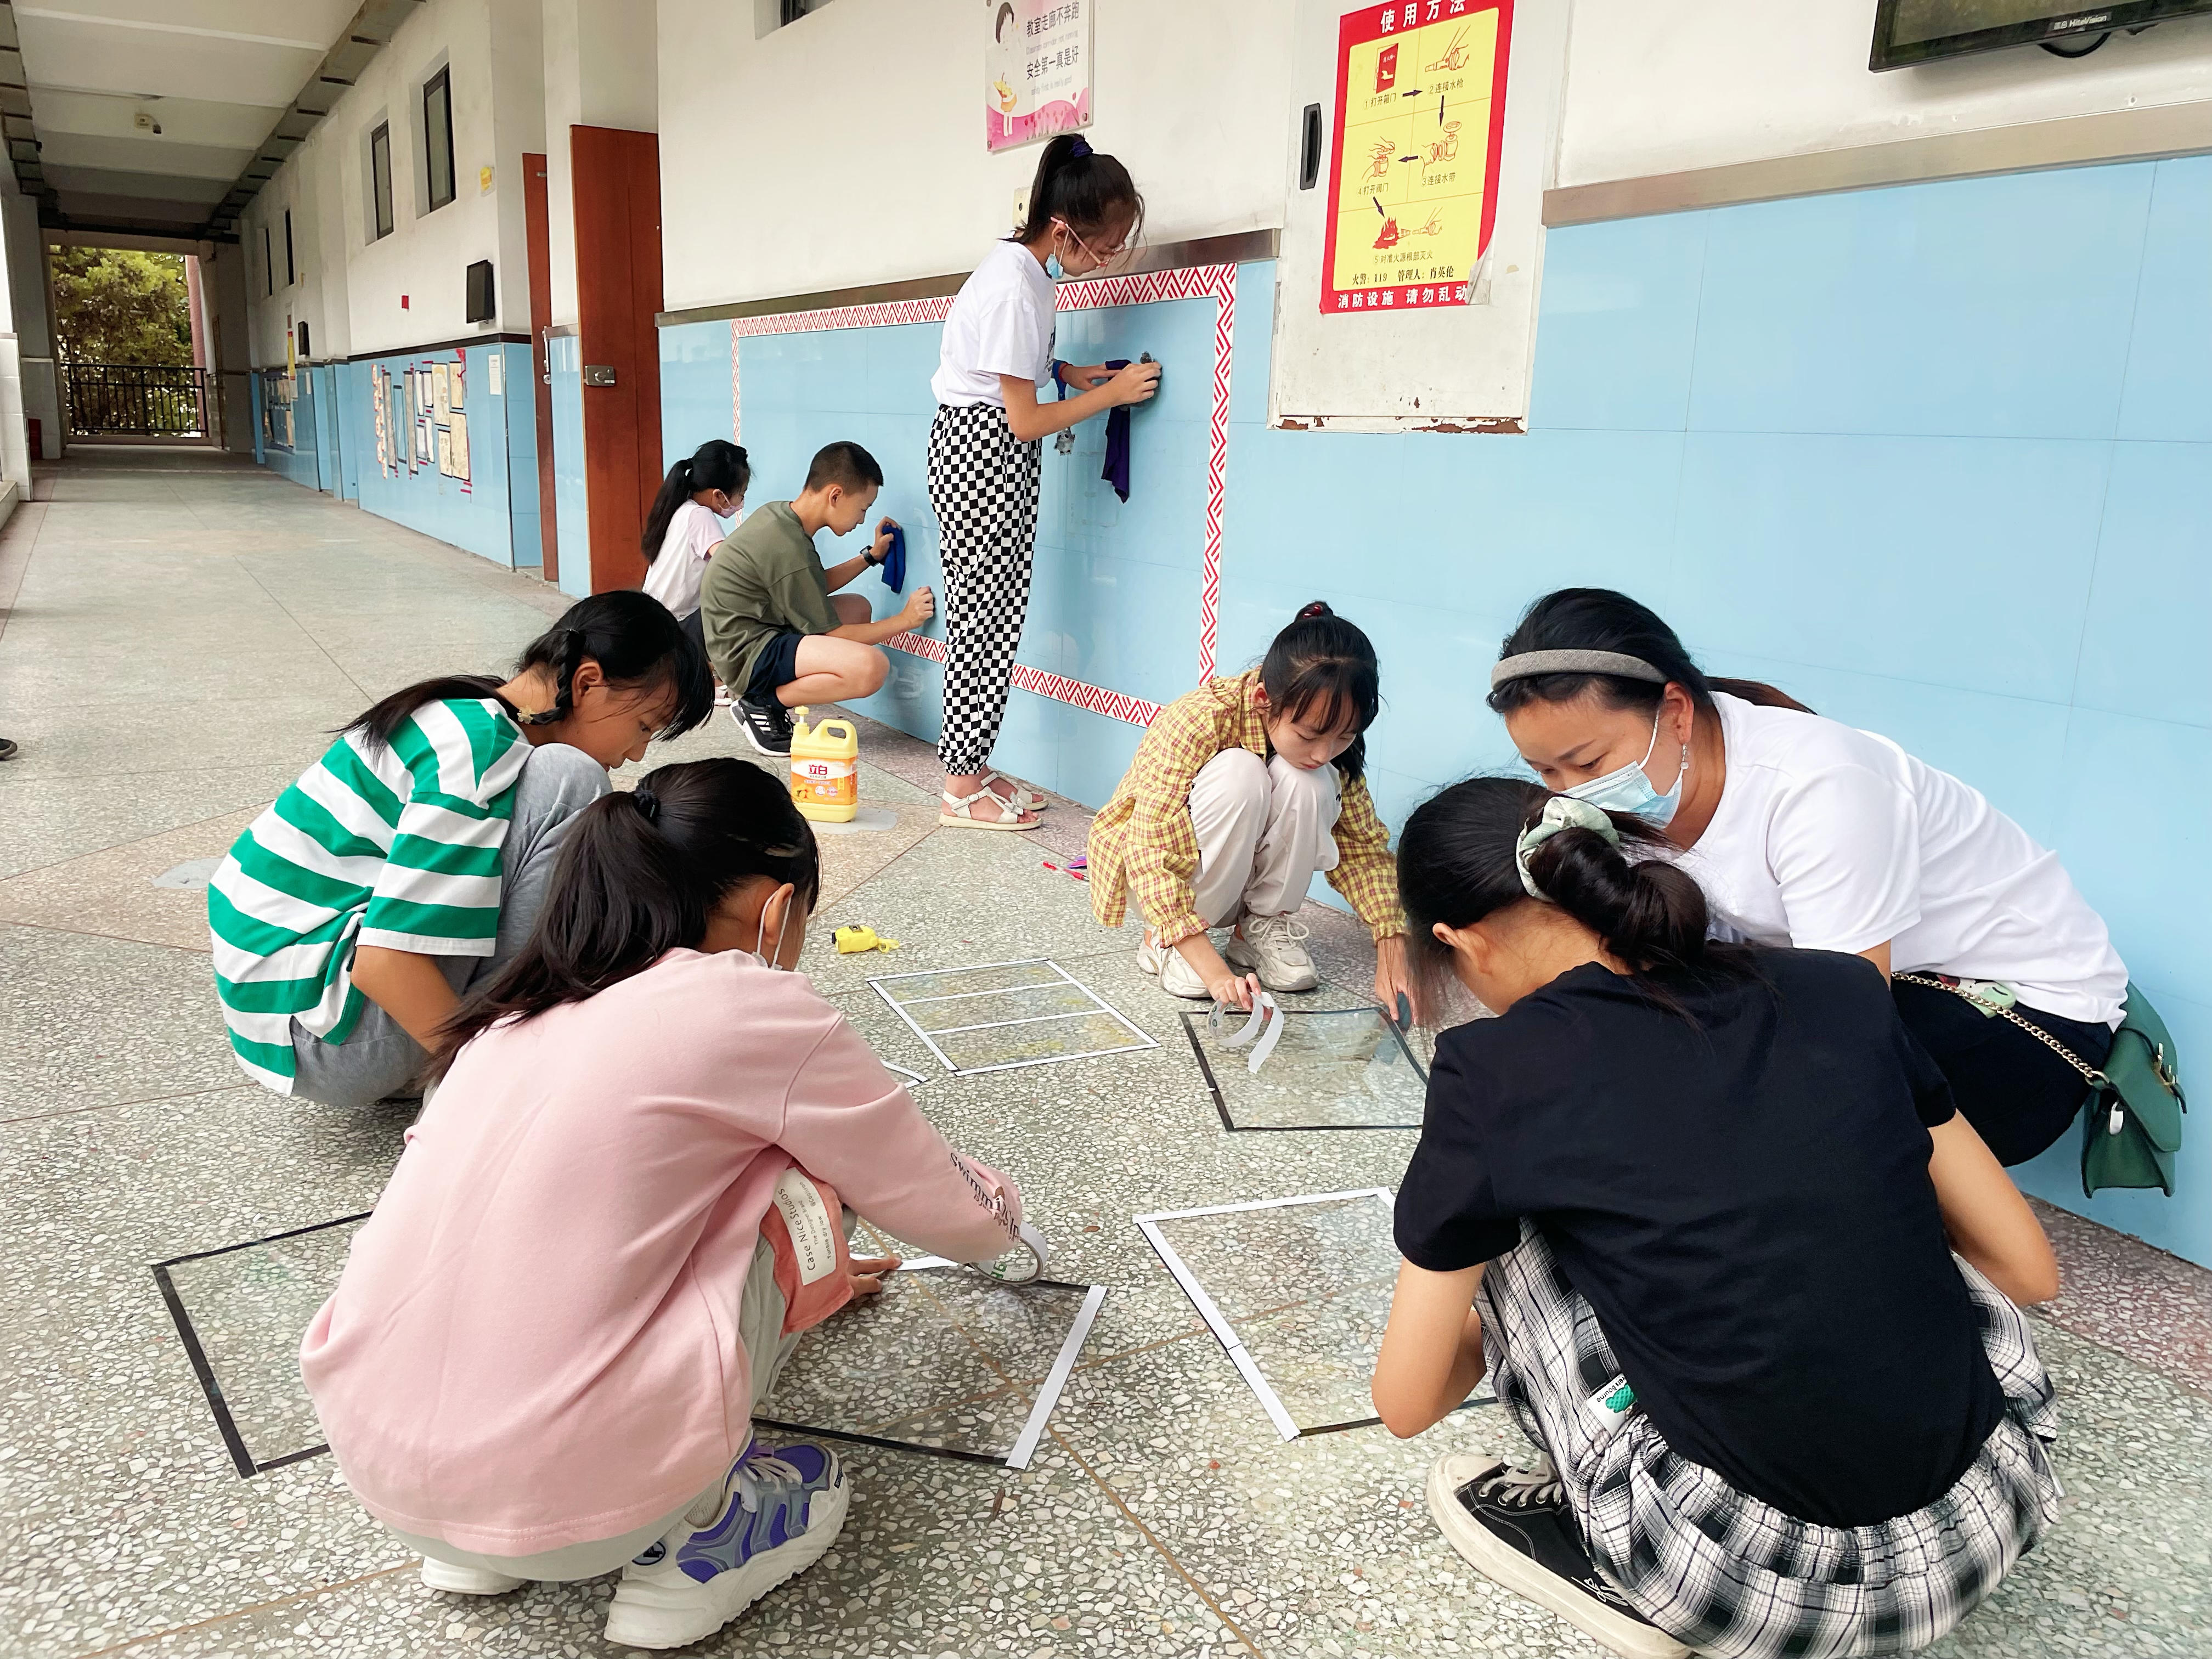
<path id="1" fill-rule="evenodd" d="M 1190 785 L 1199 768 L 1223 750 L 1267 754 L 1267 728 L 1252 701 L 1256 688 L 1256 668 L 1234 679 L 1210 679 L 1168 703 L 1144 734 L 1113 801 L 1091 821 L 1091 911 L 1106 927 L 1119 927 L 1135 898 L 1161 945 L 1206 931 L 1190 891 L 1199 874 Z M 1378 940 L 1402 933 L 1398 860 L 1389 849 L 1389 832 L 1376 818 L 1367 783 L 1349 779 L 1340 799 L 1329 887 L 1345 896 Z"/>

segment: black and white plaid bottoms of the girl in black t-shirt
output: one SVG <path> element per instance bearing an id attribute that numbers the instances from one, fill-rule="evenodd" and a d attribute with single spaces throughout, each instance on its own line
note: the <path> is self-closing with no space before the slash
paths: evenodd
<path id="1" fill-rule="evenodd" d="M 1966 1617 L 2057 1517 L 2051 1378 L 2026 1316 L 1964 1261 L 2004 1418 L 1958 1484 L 1874 1526 L 1816 1526 L 1677 1455 L 1637 1409 L 1608 1433 L 1584 1402 L 1613 1345 L 1535 1228 L 1482 1272 L 1491 1383 L 1551 1453 L 1597 1571 L 1655 1626 L 1721 1659 L 1909 1652 Z"/>

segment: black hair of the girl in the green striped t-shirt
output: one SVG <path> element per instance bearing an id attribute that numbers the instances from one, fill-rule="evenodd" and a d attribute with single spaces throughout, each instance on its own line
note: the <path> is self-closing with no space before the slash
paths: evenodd
<path id="1" fill-rule="evenodd" d="M 595 593 L 577 599 L 562 619 L 522 648 L 515 675 L 544 668 L 553 679 L 553 708 L 538 714 L 509 714 L 522 726 L 555 726 L 575 708 L 575 670 L 591 659 L 599 664 L 611 686 L 646 695 L 672 695 L 668 721 L 659 737 L 681 737 L 714 712 L 714 679 L 706 653 L 684 624 L 668 615 L 659 599 L 626 591 Z M 389 748 L 394 734 L 427 703 L 476 701 L 498 697 L 500 681 L 489 675 L 447 675 L 396 690 L 349 719 L 341 734 L 358 734 L 378 748 Z M 500 699 L 504 701 L 504 699 Z"/>

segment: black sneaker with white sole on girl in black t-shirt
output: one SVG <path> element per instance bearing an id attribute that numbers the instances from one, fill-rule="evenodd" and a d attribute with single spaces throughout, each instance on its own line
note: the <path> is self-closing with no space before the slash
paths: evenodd
<path id="1" fill-rule="evenodd" d="M 1429 1469 L 1429 1513 L 1482 1577 L 1551 1608 L 1624 1659 L 1690 1652 L 1597 1577 L 1551 1458 L 1537 1469 L 1467 1453 L 1438 1458 Z"/>

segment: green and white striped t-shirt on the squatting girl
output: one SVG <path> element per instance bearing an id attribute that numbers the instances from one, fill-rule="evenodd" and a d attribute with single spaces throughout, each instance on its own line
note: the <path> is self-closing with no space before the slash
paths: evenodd
<path id="1" fill-rule="evenodd" d="M 385 748 L 347 732 L 276 796 L 208 883 L 230 1046 L 292 1093 L 292 1022 L 345 1042 L 354 949 L 491 956 L 500 843 L 529 743 L 493 699 L 425 703 Z"/>

